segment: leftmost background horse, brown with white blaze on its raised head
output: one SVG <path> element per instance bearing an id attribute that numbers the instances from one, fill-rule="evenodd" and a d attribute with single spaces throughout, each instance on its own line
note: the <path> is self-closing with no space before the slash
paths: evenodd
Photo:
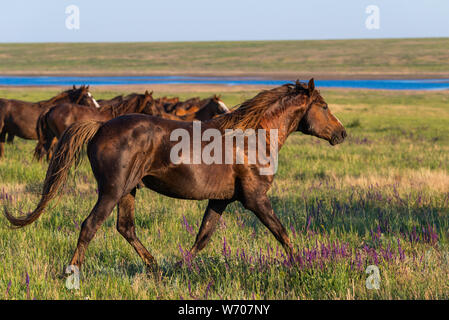
<path id="1" fill-rule="evenodd" d="M 49 100 L 35 103 L 0 99 L 0 158 L 4 154 L 6 134 L 8 134 L 8 142 L 12 142 L 14 136 L 36 140 L 36 124 L 39 115 L 51 106 L 62 102 L 96 106 L 96 101 L 92 98 L 88 86 L 81 86 L 78 89 L 73 86 L 72 89 L 61 92 Z"/>

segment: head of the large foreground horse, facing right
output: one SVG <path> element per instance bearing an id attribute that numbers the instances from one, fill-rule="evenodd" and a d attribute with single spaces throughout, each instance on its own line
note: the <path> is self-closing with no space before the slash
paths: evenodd
<path id="1" fill-rule="evenodd" d="M 313 79 L 307 86 L 308 106 L 298 131 L 327 140 L 331 145 L 342 143 L 347 136 L 345 128 L 329 110 L 319 91 L 315 90 Z"/>

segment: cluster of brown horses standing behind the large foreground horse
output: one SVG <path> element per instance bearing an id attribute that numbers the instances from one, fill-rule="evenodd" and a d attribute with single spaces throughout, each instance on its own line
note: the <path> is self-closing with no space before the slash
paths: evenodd
<path id="1" fill-rule="evenodd" d="M 50 160 L 56 141 L 75 122 L 108 121 L 128 113 L 204 121 L 226 112 L 229 109 L 217 95 L 179 101 L 177 97 L 153 99 L 152 93 L 147 91 L 97 102 L 89 92 L 89 86 L 73 86 L 49 100 L 36 103 L 0 99 L 0 157 L 4 155 L 6 135 L 8 143 L 12 143 L 15 136 L 38 140 L 34 156 L 41 160 L 47 155 L 47 160 Z"/>

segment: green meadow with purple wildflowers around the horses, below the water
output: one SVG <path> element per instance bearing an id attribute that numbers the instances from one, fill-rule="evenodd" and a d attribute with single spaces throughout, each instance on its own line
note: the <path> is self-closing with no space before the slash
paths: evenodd
<path id="1" fill-rule="evenodd" d="M 56 91 L 1 89 L 0 96 L 33 101 Z M 108 98 L 121 92 L 93 93 Z M 254 93 L 222 97 L 234 105 Z M 96 201 L 85 162 L 33 225 L 9 230 L 0 216 L 0 298 L 448 299 L 448 92 L 322 93 L 349 138 L 331 147 L 291 136 L 270 191 L 295 246 L 295 265 L 253 214 L 233 204 L 198 259 L 176 269 L 193 244 L 206 202 L 139 190 L 137 233 L 159 262 L 162 279 L 146 276 L 115 230 L 114 211 L 87 251 L 80 289 L 68 290 L 62 271 Z M 34 208 L 45 176 L 45 164 L 32 159 L 34 145 L 16 138 L 0 160 L 0 201 L 16 215 Z M 366 287 L 369 265 L 379 268 L 379 289 Z"/>

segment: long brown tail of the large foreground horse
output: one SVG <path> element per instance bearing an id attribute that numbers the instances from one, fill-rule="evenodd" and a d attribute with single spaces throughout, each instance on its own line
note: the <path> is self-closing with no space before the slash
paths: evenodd
<path id="1" fill-rule="evenodd" d="M 75 122 L 64 131 L 48 166 L 42 197 L 36 209 L 24 217 L 16 218 L 5 208 L 4 215 L 13 228 L 24 227 L 39 218 L 48 202 L 67 180 L 72 165 L 79 163 L 83 146 L 92 140 L 102 124 L 103 122 L 94 120 Z"/>

